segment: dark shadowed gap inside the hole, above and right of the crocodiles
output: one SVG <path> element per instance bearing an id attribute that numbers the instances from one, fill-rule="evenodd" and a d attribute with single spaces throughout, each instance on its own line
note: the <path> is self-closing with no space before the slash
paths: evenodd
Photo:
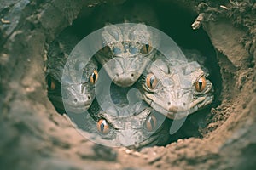
<path id="1" fill-rule="evenodd" d="M 124 4 L 119 4 L 119 6 L 104 4 L 102 6 L 90 9 L 90 15 L 83 14 L 82 12 L 79 14 L 78 19 L 73 21 L 73 26 L 67 27 L 66 31 L 72 31 L 74 35 L 82 39 L 83 37 L 90 34 L 90 32 L 96 31 L 96 29 L 104 26 L 105 22 L 112 21 L 112 23 L 115 24 L 124 21 L 121 17 L 122 13 L 115 14 L 116 17 L 114 17 L 114 10 L 109 10 L 109 8 L 116 9 L 122 6 L 125 14 L 138 2 L 144 1 L 131 0 Z M 154 9 L 159 23 L 160 31 L 164 31 L 168 36 L 172 37 L 172 39 L 177 42 L 178 46 L 185 49 L 199 50 L 201 54 L 207 56 L 207 62 L 205 66 L 211 71 L 209 79 L 211 80 L 215 91 L 215 100 L 212 107 L 219 105 L 218 96 L 221 91 L 222 83 L 219 66 L 217 63 L 214 47 L 212 46 L 207 33 L 202 28 L 199 30 L 193 30 L 191 27 L 191 24 L 194 22 L 197 14 L 190 11 L 188 8 L 183 8 L 177 5 L 176 3 L 156 3 L 154 1 L 150 1 L 147 2 L 147 5 Z M 144 10 L 143 12 L 147 11 Z M 107 16 L 105 17 L 107 20 L 98 20 L 99 18 L 101 19 L 101 17 L 98 16 L 101 14 Z M 113 19 L 111 17 L 113 17 Z M 210 113 L 210 110 L 211 106 L 207 107 L 203 111 L 197 111 L 197 113 L 188 116 L 186 122 L 183 124 L 183 127 L 181 127 L 177 133 L 172 135 L 170 142 L 189 137 L 202 137 L 199 129 L 207 127 L 207 115 Z"/>

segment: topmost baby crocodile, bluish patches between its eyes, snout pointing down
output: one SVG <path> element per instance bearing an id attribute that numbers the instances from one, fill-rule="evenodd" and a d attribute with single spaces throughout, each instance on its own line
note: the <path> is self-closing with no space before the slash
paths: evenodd
<path id="1" fill-rule="evenodd" d="M 154 57 L 155 36 L 144 24 L 105 26 L 102 31 L 104 47 L 96 54 L 96 59 L 115 84 L 130 87 Z"/>

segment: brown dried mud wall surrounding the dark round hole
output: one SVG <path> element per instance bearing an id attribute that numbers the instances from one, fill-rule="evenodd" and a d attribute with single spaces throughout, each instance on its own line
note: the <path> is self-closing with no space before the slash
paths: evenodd
<path id="1" fill-rule="evenodd" d="M 44 82 L 49 42 L 70 26 L 81 10 L 90 15 L 102 3 L 124 2 L 0 2 L 0 169 L 253 169 L 253 0 L 173 3 L 203 14 L 200 29 L 207 32 L 217 54 L 221 75 L 219 105 L 208 114 L 207 127 L 201 129 L 202 138 L 178 139 L 166 146 L 140 151 L 108 148 L 84 139 L 64 116 L 56 113 Z"/>

